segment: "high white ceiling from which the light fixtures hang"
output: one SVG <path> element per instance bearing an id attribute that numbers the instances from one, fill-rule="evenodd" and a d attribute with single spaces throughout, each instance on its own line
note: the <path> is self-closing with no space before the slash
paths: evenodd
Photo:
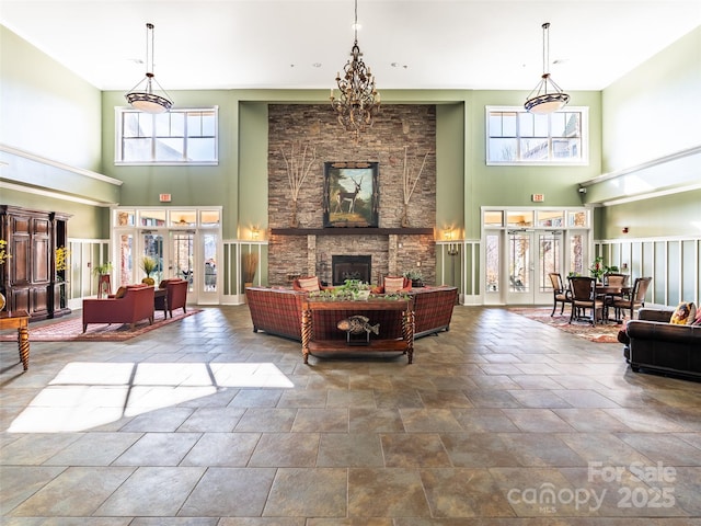
<path id="1" fill-rule="evenodd" d="M 166 91 L 329 89 L 353 20 L 353 0 L 0 0 L 2 25 L 101 90 L 143 78 L 147 22 Z M 358 0 L 358 44 L 380 92 L 529 92 L 543 22 L 553 79 L 600 90 L 701 25 L 701 0 Z"/>

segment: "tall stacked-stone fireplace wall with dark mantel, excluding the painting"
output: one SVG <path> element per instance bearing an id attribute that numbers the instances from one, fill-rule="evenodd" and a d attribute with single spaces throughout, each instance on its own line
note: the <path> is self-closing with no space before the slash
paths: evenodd
<path id="1" fill-rule="evenodd" d="M 269 104 L 267 110 L 268 284 L 290 286 L 290 275 L 317 275 L 329 285 L 346 278 L 378 284 L 382 276 L 417 267 L 424 283 L 435 283 L 436 106 L 383 106 L 382 118 L 358 142 L 338 129 L 327 105 Z M 324 224 L 332 183 L 324 163 L 330 161 L 378 163 L 377 227 Z M 308 174 L 292 202 L 290 173 L 303 171 Z M 415 182 L 406 207 L 405 175 Z M 336 268 L 335 256 L 348 260 Z"/>

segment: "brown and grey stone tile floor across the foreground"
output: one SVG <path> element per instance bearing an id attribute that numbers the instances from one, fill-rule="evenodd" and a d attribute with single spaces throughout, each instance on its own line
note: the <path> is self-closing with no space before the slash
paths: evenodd
<path id="1" fill-rule="evenodd" d="M 8 526 L 701 524 L 701 384 L 504 309 L 413 365 L 306 366 L 245 306 L 0 357 Z"/>

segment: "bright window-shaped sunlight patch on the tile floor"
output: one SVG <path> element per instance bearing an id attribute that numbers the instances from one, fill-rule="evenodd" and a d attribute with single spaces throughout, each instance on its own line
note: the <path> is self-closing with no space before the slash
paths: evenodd
<path id="1" fill-rule="evenodd" d="M 271 363 L 67 364 L 27 408 L 10 433 L 85 431 L 228 388 L 292 388 Z"/>

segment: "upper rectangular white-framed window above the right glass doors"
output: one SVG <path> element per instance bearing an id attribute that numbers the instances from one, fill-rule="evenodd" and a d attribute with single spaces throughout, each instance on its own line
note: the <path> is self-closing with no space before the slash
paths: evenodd
<path id="1" fill-rule="evenodd" d="M 550 115 L 522 107 L 486 107 L 486 163 L 588 163 L 587 107 L 570 106 Z"/>

